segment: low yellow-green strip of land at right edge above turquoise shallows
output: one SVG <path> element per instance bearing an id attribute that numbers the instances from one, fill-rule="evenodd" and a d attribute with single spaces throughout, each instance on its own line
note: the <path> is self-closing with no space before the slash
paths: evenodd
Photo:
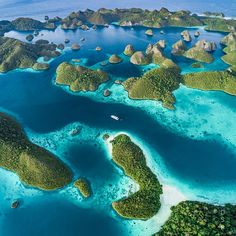
<path id="1" fill-rule="evenodd" d="M 218 90 L 236 96 L 236 76 L 228 71 L 190 73 L 182 76 L 189 88 Z"/>

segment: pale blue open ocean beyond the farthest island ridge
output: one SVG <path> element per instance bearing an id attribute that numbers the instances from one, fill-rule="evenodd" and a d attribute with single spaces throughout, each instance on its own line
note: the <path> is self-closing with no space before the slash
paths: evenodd
<path id="1" fill-rule="evenodd" d="M 0 18 L 12 19 L 19 16 L 33 16 L 43 19 L 45 15 L 66 16 L 69 12 L 76 10 L 85 10 L 87 8 L 96 10 L 101 7 L 106 8 L 130 8 L 140 7 L 145 9 L 160 9 L 167 7 L 170 10 L 190 10 L 194 13 L 203 13 L 205 11 L 223 12 L 226 16 L 235 17 L 236 0 L 199 0 L 199 1 L 173 1 L 173 0 L 136 0 L 136 1 L 110 1 L 96 0 L 87 1 L 63 1 L 63 0 L 1 0 Z"/>

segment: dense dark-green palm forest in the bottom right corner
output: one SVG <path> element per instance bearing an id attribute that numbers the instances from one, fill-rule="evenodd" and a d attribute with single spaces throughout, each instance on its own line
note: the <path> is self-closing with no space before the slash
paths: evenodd
<path id="1" fill-rule="evenodd" d="M 155 236 L 236 235 L 236 206 L 185 201 L 172 207 L 169 220 Z"/>

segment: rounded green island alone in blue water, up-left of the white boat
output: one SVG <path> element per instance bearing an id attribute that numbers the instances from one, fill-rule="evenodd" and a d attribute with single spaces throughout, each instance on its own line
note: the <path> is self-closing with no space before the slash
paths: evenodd
<path id="1" fill-rule="evenodd" d="M 70 86 L 70 90 L 73 92 L 95 91 L 100 84 L 109 79 L 103 71 L 72 65 L 67 62 L 61 63 L 56 73 L 56 83 Z"/>

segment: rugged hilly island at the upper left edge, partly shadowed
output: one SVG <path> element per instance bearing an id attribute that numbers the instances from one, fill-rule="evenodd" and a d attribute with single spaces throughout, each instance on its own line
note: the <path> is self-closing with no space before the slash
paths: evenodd
<path id="1" fill-rule="evenodd" d="M 25 43 L 18 39 L 0 37 L 0 72 L 17 68 L 48 69 L 48 64 L 38 64 L 40 57 L 55 58 L 60 55 L 53 43 Z"/>

